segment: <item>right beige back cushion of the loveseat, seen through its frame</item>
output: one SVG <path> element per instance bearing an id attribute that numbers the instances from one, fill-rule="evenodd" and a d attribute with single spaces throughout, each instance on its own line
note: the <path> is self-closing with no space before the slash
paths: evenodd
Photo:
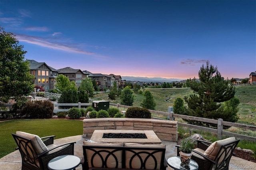
<path id="1" fill-rule="evenodd" d="M 124 143 L 124 146 L 127 147 L 139 147 L 139 148 L 166 148 L 165 144 L 137 144 L 137 143 Z M 138 152 L 142 152 L 142 151 L 146 151 L 148 153 L 152 153 L 156 150 L 133 150 L 134 152 L 138 153 Z M 130 167 L 129 163 L 130 163 L 130 159 L 132 158 L 132 156 L 134 156 L 134 152 L 130 152 L 130 151 L 126 151 L 125 153 L 125 158 L 126 158 L 126 168 L 133 168 L 133 169 L 140 169 L 141 167 L 141 162 L 138 156 L 135 156 L 132 159 L 132 167 Z M 148 156 L 147 153 L 140 153 L 139 154 L 140 157 L 142 158 L 142 161 L 144 162 L 146 157 Z M 156 169 L 160 169 L 160 165 L 161 165 L 161 158 L 162 158 L 162 152 L 156 152 L 153 154 L 156 158 L 156 162 L 157 162 L 157 167 Z M 154 169 L 155 168 L 155 160 L 154 158 L 149 157 L 148 160 L 146 160 L 146 169 Z"/>

